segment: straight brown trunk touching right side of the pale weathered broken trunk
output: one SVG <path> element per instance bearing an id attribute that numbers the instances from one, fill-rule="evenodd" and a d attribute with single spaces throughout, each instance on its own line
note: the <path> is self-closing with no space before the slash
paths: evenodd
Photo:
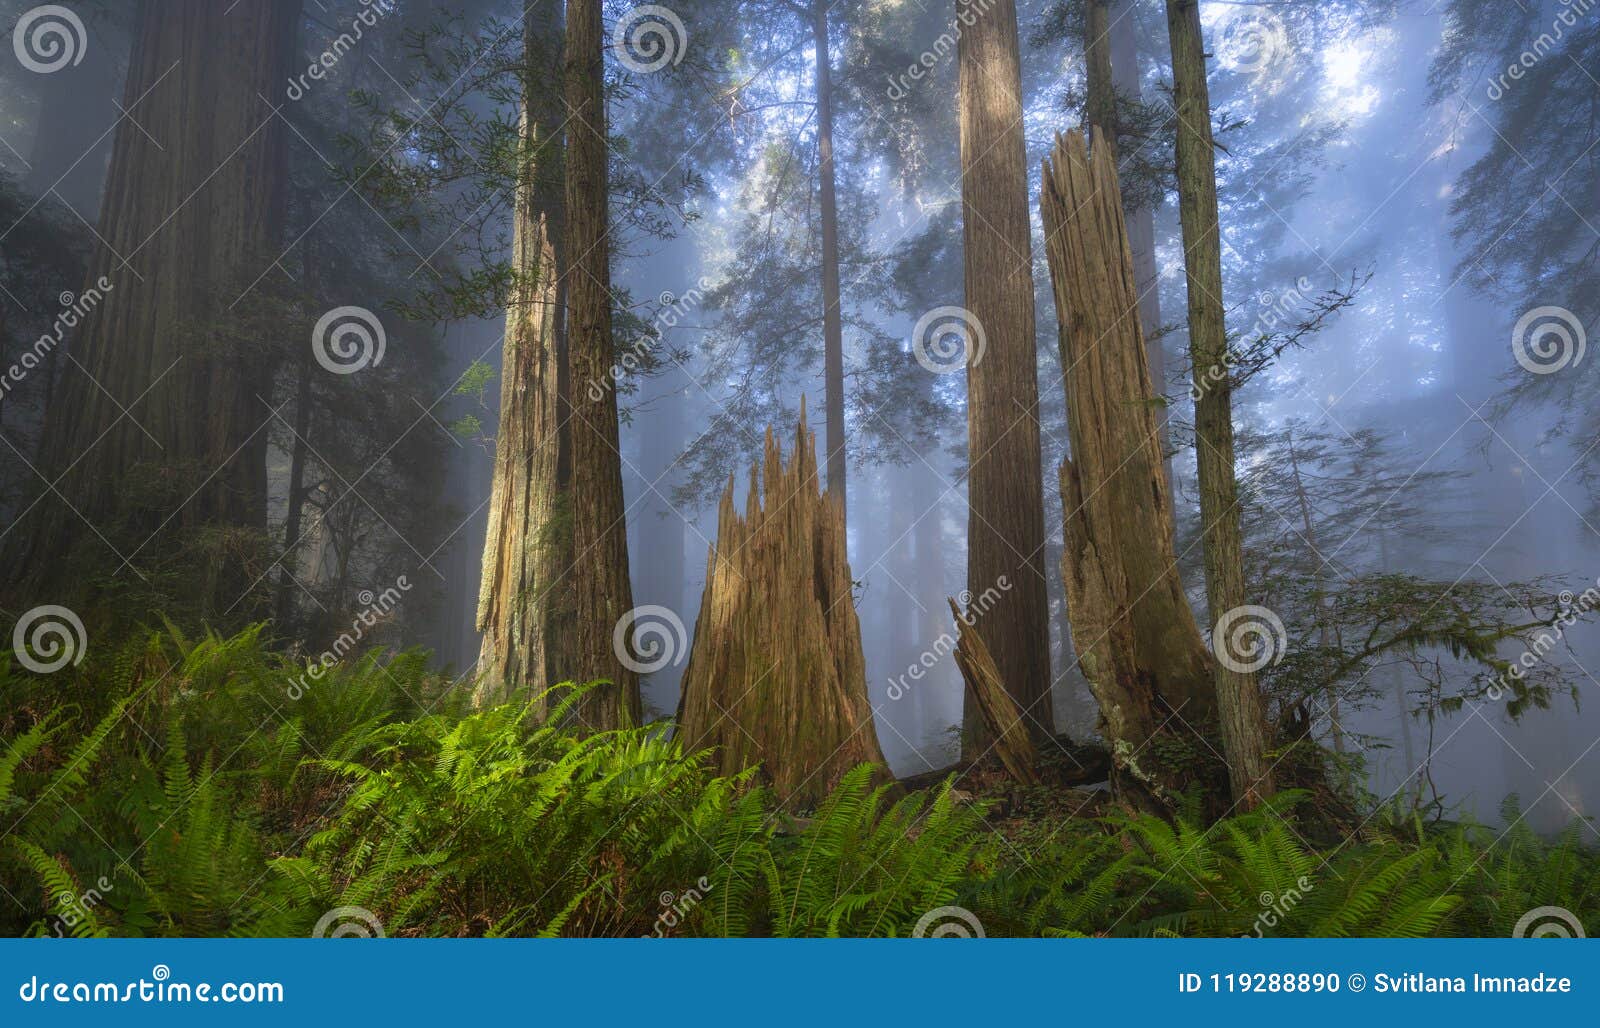
<path id="1" fill-rule="evenodd" d="M 566 5 L 566 253 L 573 388 L 573 565 L 578 616 L 574 671 L 590 690 L 576 714 L 603 730 L 640 721 L 638 674 L 613 632 L 634 608 L 616 391 L 611 388 L 611 247 L 608 242 L 605 34 L 600 0 Z"/>

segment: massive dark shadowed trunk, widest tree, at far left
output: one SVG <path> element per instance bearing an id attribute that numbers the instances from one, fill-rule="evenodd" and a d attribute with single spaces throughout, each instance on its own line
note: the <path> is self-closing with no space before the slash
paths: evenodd
<path id="1" fill-rule="evenodd" d="M 251 586 L 266 543 L 270 412 L 258 394 L 270 362 L 254 325 L 269 282 L 245 293 L 280 258 L 286 128 L 262 98 L 285 80 L 299 10 L 141 6 L 131 117 L 88 275 L 114 288 L 82 323 L 51 404 L 42 461 L 61 480 L 34 512 L 38 530 L 19 533 L 29 588 L 82 592 L 86 568 L 112 557 L 123 580 L 157 560 L 186 575 L 202 616 L 270 602 Z"/>

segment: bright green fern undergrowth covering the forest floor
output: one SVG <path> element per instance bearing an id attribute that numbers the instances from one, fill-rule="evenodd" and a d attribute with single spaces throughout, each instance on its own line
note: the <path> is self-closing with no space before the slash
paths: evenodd
<path id="1" fill-rule="evenodd" d="M 0 661 L 5 658 L 0 657 Z M 581 689 L 470 709 L 422 653 L 315 677 L 259 629 L 168 626 L 38 677 L 0 663 L 0 930 L 306 935 L 1507 935 L 1600 922 L 1600 855 L 1374 810 L 1315 849 L 1306 797 L 1205 826 L 1128 812 L 1024 829 L 949 785 L 848 773 L 810 817 L 669 725 L 579 735 Z"/>

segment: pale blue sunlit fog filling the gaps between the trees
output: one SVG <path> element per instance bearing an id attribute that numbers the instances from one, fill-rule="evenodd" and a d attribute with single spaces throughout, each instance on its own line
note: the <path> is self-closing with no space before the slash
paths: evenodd
<path id="1" fill-rule="evenodd" d="M 27 6 L 5 0 L 0 24 L 11 26 Z M 125 6 L 75 5 L 88 29 L 91 54 L 80 66 L 51 75 L 30 75 L 14 62 L 5 67 L 0 173 L 18 202 L 14 210 L 8 203 L 0 224 L 0 263 L 32 259 L 18 243 L 34 232 L 70 232 L 74 247 L 93 245 L 110 147 L 125 117 L 118 112 L 131 48 L 131 16 Z M 307 5 L 301 26 L 299 50 L 307 54 L 322 50 L 317 40 L 338 35 L 334 29 L 360 8 L 350 2 L 328 3 L 326 11 L 318 11 L 322 6 Z M 398 16 L 411 19 L 406 24 L 424 24 L 427 16 L 448 14 L 453 32 L 470 32 L 485 19 L 515 21 L 517 6 L 408 0 L 398 5 Z M 1054 133 L 1080 123 L 1083 66 L 1074 43 L 1030 38 L 1050 6 L 1019 3 L 1029 179 L 1035 191 L 1040 474 L 1054 634 L 1054 727 L 1083 738 L 1094 732 L 1096 714 L 1066 628 L 1062 516 L 1054 485 L 1056 468 L 1069 448 L 1066 397 L 1037 221 L 1037 168 Z M 1293 424 L 1301 434 L 1323 434 L 1330 445 L 1354 442 L 1358 432 L 1371 431 L 1394 456 L 1397 474 L 1386 480 L 1421 487 L 1418 495 L 1406 492 L 1395 501 L 1418 511 L 1410 528 L 1390 527 L 1387 535 L 1379 532 L 1387 522 L 1374 520 L 1371 509 L 1344 516 L 1338 506 L 1325 504 L 1315 511 L 1318 527 L 1331 530 L 1322 532 L 1314 544 L 1302 541 L 1323 557 L 1320 564 L 1334 580 L 1328 602 L 1341 602 L 1338 578 L 1378 572 L 1446 586 L 1488 584 L 1512 599 L 1520 597 L 1514 583 L 1544 580 L 1552 591 L 1581 597 L 1600 583 L 1600 514 L 1589 484 L 1597 466 L 1595 440 L 1589 423 L 1558 396 L 1528 392 L 1528 373 L 1514 354 L 1514 330 L 1539 306 L 1570 307 L 1579 312 L 1579 320 L 1590 315 L 1578 296 L 1579 290 L 1594 291 L 1592 277 L 1586 277 L 1587 247 L 1563 239 L 1550 240 L 1544 250 L 1546 283 L 1565 277 L 1570 295 L 1554 287 L 1530 291 L 1509 275 L 1504 288 L 1494 290 L 1483 279 L 1501 272 L 1496 264 L 1501 243 L 1485 247 L 1478 234 L 1456 234 L 1462 219 L 1482 218 L 1456 208 L 1462 176 L 1507 136 L 1518 147 L 1539 144 L 1536 126 L 1502 120 L 1515 117 L 1507 110 L 1518 110 L 1514 104 L 1522 102 L 1522 94 L 1514 88 L 1502 99 L 1491 99 L 1490 83 L 1498 70 L 1493 61 L 1482 61 L 1488 70 L 1475 78 L 1467 74 L 1435 96 L 1432 78 L 1448 26 L 1446 5 L 1350 3 L 1328 5 L 1322 13 L 1290 10 L 1283 16 L 1274 6 L 1245 5 L 1243 10 L 1272 19 L 1264 42 L 1259 35 L 1254 42 L 1235 38 L 1237 29 L 1229 24 L 1234 6 L 1203 5 L 1206 26 L 1216 32 L 1213 107 L 1216 120 L 1230 126 L 1219 133 L 1224 149 L 1218 167 L 1229 328 L 1248 336 L 1251 325 L 1278 304 L 1301 309 L 1315 295 L 1360 283 L 1349 306 L 1243 386 L 1235 397 L 1235 421 L 1242 437 L 1272 436 Z M 1531 6 L 1528 18 L 1547 24 L 1563 5 Z M 742 503 L 763 432 L 771 424 L 789 447 L 802 397 L 819 450 L 826 452 L 827 440 L 821 415 L 826 392 L 821 322 L 786 322 L 781 303 L 787 296 L 818 307 L 816 295 L 795 295 L 784 285 L 770 285 L 776 295 L 762 295 L 746 279 L 757 258 L 770 261 L 763 267 L 774 275 L 798 269 L 797 280 L 816 279 L 810 227 L 814 218 L 808 202 L 773 205 L 781 216 L 766 219 L 765 242 L 757 231 L 770 199 L 790 187 L 774 170 L 776 159 L 790 154 L 802 181 L 814 173 L 813 112 L 795 104 L 795 98 L 811 90 L 816 54 L 810 38 L 784 38 L 778 22 L 762 37 L 760 21 L 717 26 L 718 5 L 712 0 L 686 8 L 690 46 L 704 32 L 717 42 L 734 38 L 750 54 L 770 61 L 760 88 L 738 99 L 701 90 L 688 70 L 680 80 L 640 77 L 643 83 L 619 85 L 611 99 L 611 131 L 629 141 L 613 159 L 613 208 L 622 211 L 613 243 L 613 275 L 630 312 L 642 323 L 659 327 L 666 354 L 629 376 L 619 396 L 634 602 L 672 612 L 691 634 L 707 552 L 717 535 L 717 500 L 728 476 L 734 476 L 734 496 Z M 1136 26 L 1146 98 L 1160 107 L 1163 90 L 1170 88 L 1160 5 L 1133 5 L 1120 16 Z M 869 50 L 862 38 L 885 24 L 910 26 L 912 35 L 896 40 L 896 46 L 917 54 L 936 46 L 947 18 L 938 13 L 912 18 L 906 5 L 877 0 L 846 5 L 838 21 L 834 46 L 840 54 Z M 360 301 L 374 311 L 411 303 L 411 290 L 429 285 L 426 271 L 406 280 L 413 266 L 437 264 L 442 277 L 448 277 L 450 267 L 469 264 L 462 250 L 469 240 L 504 259 L 512 227 L 509 207 L 488 202 L 486 192 L 464 179 L 438 186 L 435 219 L 405 224 L 370 203 L 358 189 L 344 191 L 342 179 L 330 170 L 344 162 L 334 154 L 334 133 L 309 125 L 314 118 L 328 122 L 326 112 L 339 106 L 346 107 L 349 123 L 357 123 L 363 110 L 350 98 L 354 90 L 384 91 L 384 106 L 413 115 L 421 110 L 422 117 L 443 96 L 437 86 L 429 93 L 427 82 L 406 75 L 411 61 L 406 48 L 400 29 L 390 26 L 382 38 L 363 40 L 346 56 L 314 101 L 285 110 L 296 125 L 290 147 L 298 224 L 320 224 L 318 232 L 331 229 L 342 242 L 362 240 L 358 247 L 379 267 L 374 279 L 387 291 L 349 303 Z M 954 56 L 939 58 L 928 78 L 914 83 L 930 96 L 912 114 L 886 96 L 893 88 L 890 78 L 866 59 L 840 70 L 843 82 L 835 99 L 845 239 L 850 562 L 878 738 L 899 775 L 947 767 L 958 757 L 962 679 L 947 655 L 954 632 L 947 597 L 974 599 L 963 594 L 970 588 L 965 381 L 958 373 L 936 375 L 912 360 L 918 317 L 936 306 L 962 304 L 954 64 Z M 693 59 L 685 69 L 690 66 Z M 314 110 L 310 102 L 320 107 Z M 467 107 L 480 118 L 496 112 L 515 118 L 512 98 L 504 91 L 480 90 Z M 442 118 L 450 130 L 459 131 L 461 125 Z M 1149 146 L 1158 149 L 1160 138 L 1165 136 L 1152 135 Z M 322 154 L 322 147 L 328 152 Z M 1531 175 L 1544 179 L 1547 191 L 1515 202 L 1565 205 L 1573 221 L 1589 226 L 1595 195 L 1576 191 L 1579 181 L 1594 179 L 1576 175 L 1568 179 L 1565 162 L 1541 152 L 1528 152 L 1526 159 L 1536 168 Z M 1125 176 L 1134 175 L 1136 163 L 1138 154 L 1123 155 Z M 808 189 L 800 194 L 810 195 Z M 318 218 L 323 208 L 333 213 L 331 221 Z M 48 224 L 40 221 L 46 215 L 53 219 Z M 1205 629 L 1211 618 L 1203 610 L 1200 554 L 1187 544 L 1198 511 L 1187 428 L 1192 402 L 1182 243 L 1171 192 L 1155 205 L 1154 227 L 1166 328 L 1162 335 L 1168 355 L 1166 410 L 1174 426 L 1179 560 Z M 1592 226 L 1582 232 L 1589 234 L 1600 235 Z M 1523 247 L 1525 240 L 1504 245 Z M 784 247 L 790 250 L 779 253 Z M 395 255 L 402 259 L 395 261 Z M 298 267 L 294 261 L 282 266 L 290 279 L 294 277 L 290 266 Z M 43 296 L 75 291 L 80 285 L 75 279 L 58 280 L 53 272 L 43 279 L 38 290 Z M 1301 282 L 1310 288 L 1301 290 Z M 3 319 L 6 363 L 37 335 L 30 319 L 43 312 L 37 301 L 29 301 L 34 298 L 0 298 L 11 304 Z M 438 509 L 426 519 L 419 516 L 414 528 L 395 517 L 370 519 L 358 536 L 349 588 L 382 581 L 379 568 L 390 564 L 389 557 L 374 556 L 378 549 L 398 552 L 394 567 L 408 567 L 413 580 L 426 586 L 426 597 L 419 594 L 414 604 L 408 599 L 403 629 L 390 642 L 427 647 L 440 668 L 467 674 L 480 647 L 475 613 L 494 472 L 499 378 L 478 394 L 462 394 L 459 384 L 475 362 L 498 371 L 506 322 L 493 311 L 450 319 L 384 314 L 384 320 L 394 325 L 395 357 L 389 363 L 397 376 L 386 389 L 405 399 L 394 400 L 395 420 L 382 431 L 426 447 L 411 471 L 426 480 L 424 492 Z M 293 331 L 299 331 L 298 323 Z M 70 341 L 66 352 L 70 354 Z M 1582 362 L 1581 352 L 1562 371 L 1579 383 L 1592 381 L 1582 378 L 1592 373 L 1592 359 Z M 0 431 L 14 444 L 0 453 L 0 512 L 8 524 L 27 512 L 37 492 L 30 468 L 19 458 L 37 445 L 46 388 L 35 376 L 0 404 Z M 270 391 L 272 384 L 264 388 Z M 1582 386 L 1576 389 L 1582 396 Z M 477 418 L 482 428 L 454 431 L 462 418 Z M 312 442 L 320 439 L 314 436 Z M 274 437 L 269 456 L 274 509 L 282 509 L 286 496 L 291 450 L 291 439 Z M 1246 493 L 1251 474 L 1272 471 L 1259 466 L 1270 460 L 1262 453 L 1240 447 Z M 374 514 L 389 514 L 382 496 L 374 495 L 370 503 Z M 1291 506 L 1256 509 L 1251 546 L 1272 540 L 1296 543 L 1306 524 L 1302 514 Z M 408 538 L 402 546 L 389 533 Z M 312 602 L 338 610 L 347 597 L 325 592 L 326 583 L 312 564 L 288 567 L 307 572 L 301 588 Z M 310 610 L 306 600 L 301 605 Z M 1291 621 L 1291 645 L 1314 634 L 1312 624 L 1294 623 L 1288 610 L 1282 613 Z M 1515 660 L 1520 652 L 1520 644 L 1507 642 L 1501 657 Z M 1365 681 L 1350 684 L 1352 695 L 1358 685 L 1368 690 L 1366 698 L 1352 698 L 1338 714 L 1341 746 L 1358 757 L 1358 780 L 1378 801 L 1405 801 L 1421 791 L 1442 797 L 1442 810 L 1450 815 L 1485 821 L 1498 821 L 1501 801 L 1514 793 L 1530 810 L 1528 821 L 1541 831 L 1586 817 L 1587 797 L 1600 789 L 1600 756 L 1594 753 L 1600 741 L 1594 713 L 1600 682 L 1589 671 L 1600 666 L 1600 628 L 1587 618 L 1566 628 L 1541 661 L 1560 669 L 1563 689 L 1574 687 L 1578 701 L 1560 692 L 1549 709 L 1533 708 L 1514 719 L 1504 701 L 1483 697 L 1432 716 L 1402 713 L 1402 705 L 1418 709 L 1416 697 L 1406 701 L 1406 695 L 1421 690 L 1427 674 L 1461 681 L 1475 669 L 1470 661 L 1432 647 L 1378 660 Z M 680 655 L 643 681 L 648 713 L 674 713 L 682 671 Z M 1330 709 L 1314 708 L 1309 716 L 1314 735 L 1331 745 Z"/>

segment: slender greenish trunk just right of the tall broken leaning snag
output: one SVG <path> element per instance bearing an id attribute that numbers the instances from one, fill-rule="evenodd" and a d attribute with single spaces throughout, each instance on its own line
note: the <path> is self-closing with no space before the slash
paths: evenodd
<path id="1" fill-rule="evenodd" d="M 1206 607 L 1213 624 L 1248 605 L 1243 533 L 1234 479 L 1234 391 L 1222 320 L 1222 240 L 1211 144 L 1211 96 L 1198 0 L 1166 0 L 1173 46 L 1173 106 L 1178 118 L 1178 200 L 1189 280 L 1189 355 L 1194 363 L 1195 450 L 1200 469 Z M 1216 379 L 1216 381 L 1211 381 Z M 1213 634 L 1213 647 L 1227 645 Z M 1229 666 L 1232 665 L 1232 666 Z M 1256 676 L 1245 661 L 1216 661 L 1216 700 L 1234 801 L 1248 807 L 1272 794 L 1266 722 Z"/>

